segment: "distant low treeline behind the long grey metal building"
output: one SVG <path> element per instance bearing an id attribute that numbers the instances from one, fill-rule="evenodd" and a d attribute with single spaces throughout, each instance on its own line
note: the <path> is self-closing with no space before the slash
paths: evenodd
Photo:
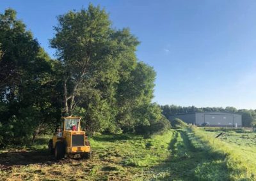
<path id="1" fill-rule="evenodd" d="M 193 113 L 193 112 L 230 112 L 230 113 L 241 113 L 242 124 L 244 127 L 255 127 L 256 126 L 256 110 L 237 110 L 234 107 L 207 107 L 207 108 L 196 108 L 195 106 L 176 106 L 176 105 L 164 105 L 161 106 L 163 115 L 169 117 L 179 113 Z"/>

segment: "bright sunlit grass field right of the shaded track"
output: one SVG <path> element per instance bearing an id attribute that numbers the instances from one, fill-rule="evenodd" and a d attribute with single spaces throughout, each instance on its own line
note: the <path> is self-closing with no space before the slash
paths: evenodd
<path id="1" fill-rule="evenodd" d="M 197 136 L 211 145 L 211 150 L 225 155 L 231 180 L 256 180 L 256 133 L 235 130 L 194 129 Z M 214 136 L 225 133 L 220 138 Z"/>

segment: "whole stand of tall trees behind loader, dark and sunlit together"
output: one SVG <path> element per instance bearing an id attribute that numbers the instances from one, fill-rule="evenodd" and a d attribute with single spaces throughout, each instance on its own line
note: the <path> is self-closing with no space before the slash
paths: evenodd
<path id="1" fill-rule="evenodd" d="M 88 134 L 151 134 L 170 127 L 151 103 L 156 72 L 138 61 L 138 39 L 92 4 L 58 17 L 47 55 L 15 10 L 0 14 L 0 147 L 49 133 L 63 116 Z"/>

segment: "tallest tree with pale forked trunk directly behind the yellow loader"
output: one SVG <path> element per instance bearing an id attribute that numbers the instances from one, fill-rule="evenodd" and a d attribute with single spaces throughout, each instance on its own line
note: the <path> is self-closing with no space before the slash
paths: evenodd
<path id="1" fill-rule="evenodd" d="M 72 115 L 80 94 L 92 94 L 100 80 L 118 81 L 116 47 L 108 14 L 99 7 L 69 11 L 58 22 L 51 46 L 63 68 L 64 112 Z"/>

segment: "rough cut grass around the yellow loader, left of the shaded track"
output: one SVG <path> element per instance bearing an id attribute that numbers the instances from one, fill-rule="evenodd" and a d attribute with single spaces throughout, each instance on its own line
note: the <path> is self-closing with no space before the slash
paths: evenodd
<path id="1" fill-rule="evenodd" d="M 2 150 L 1 180 L 148 180 L 148 170 L 170 156 L 172 131 L 152 138 L 95 136 L 88 160 L 55 161 L 46 150 L 49 136 L 43 138 L 31 149 Z"/>

